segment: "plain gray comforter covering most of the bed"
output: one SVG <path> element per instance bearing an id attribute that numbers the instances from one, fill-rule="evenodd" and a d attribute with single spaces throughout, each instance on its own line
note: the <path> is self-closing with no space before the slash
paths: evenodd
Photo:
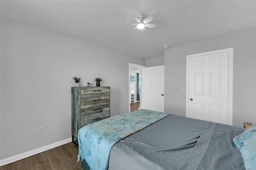
<path id="1" fill-rule="evenodd" d="M 176 115 L 116 143 L 109 170 L 244 170 L 233 137 L 244 129 Z"/>

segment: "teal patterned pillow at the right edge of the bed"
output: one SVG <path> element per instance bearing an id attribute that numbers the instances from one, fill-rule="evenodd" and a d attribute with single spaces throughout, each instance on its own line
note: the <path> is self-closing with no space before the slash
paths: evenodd
<path id="1" fill-rule="evenodd" d="M 242 154 L 246 170 L 256 170 L 256 122 L 233 141 Z"/>

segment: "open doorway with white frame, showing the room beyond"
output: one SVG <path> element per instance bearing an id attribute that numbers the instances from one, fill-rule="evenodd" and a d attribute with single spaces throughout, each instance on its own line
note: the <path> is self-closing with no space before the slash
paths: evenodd
<path id="1" fill-rule="evenodd" d="M 142 76 L 141 70 L 146 66 L 129 63 L 129 112 L 141 109 Z"/>

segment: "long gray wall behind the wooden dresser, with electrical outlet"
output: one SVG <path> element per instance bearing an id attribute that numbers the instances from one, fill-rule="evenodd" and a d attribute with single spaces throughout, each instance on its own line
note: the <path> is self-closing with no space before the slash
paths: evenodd
<path id="1" fill-rule="evenodd" d="M 1 19 L 0 159 L 71 138 L 72 76 L 102 77 L 110 115 L 128 112 L 129 63 L 144 59 Z M 124 91 L 123 89 L 127 89 Z M 44 133 L 38 127 L 44 126 Z"/>

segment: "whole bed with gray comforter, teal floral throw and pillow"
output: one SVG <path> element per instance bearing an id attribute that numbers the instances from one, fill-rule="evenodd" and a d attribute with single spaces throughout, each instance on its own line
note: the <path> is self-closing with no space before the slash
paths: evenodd
<path id="1" fill-rule="evenodd" d="M 82 127 L 78 161 L 84 170 L 252 170 L 251 127 L 140 109 Z"/>

